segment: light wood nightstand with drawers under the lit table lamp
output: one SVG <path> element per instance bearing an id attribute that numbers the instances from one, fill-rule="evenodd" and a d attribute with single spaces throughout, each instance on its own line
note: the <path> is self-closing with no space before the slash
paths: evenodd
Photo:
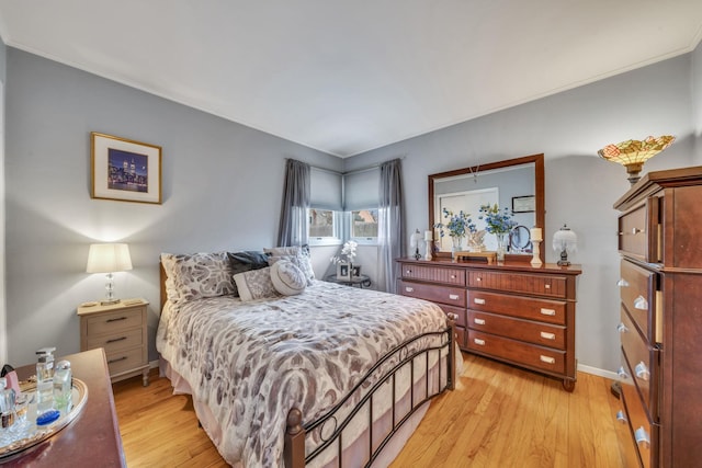
<path id="1" fill-rule="evenodd" d="M 78 307 L 80 351 L 103 347 L 113 383 L 141 374 L 149 385 L 148 339 L 144 299 L 123 299 L 117 304 Z"/>

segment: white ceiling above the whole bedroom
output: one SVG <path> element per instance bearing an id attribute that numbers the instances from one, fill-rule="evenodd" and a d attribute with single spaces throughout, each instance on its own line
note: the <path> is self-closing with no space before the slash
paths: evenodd
<path id="1" fill-rule="evenodd" d="M 340 157 L 694 49 L 701 0 L 0 0 L 5 44 Z"/>

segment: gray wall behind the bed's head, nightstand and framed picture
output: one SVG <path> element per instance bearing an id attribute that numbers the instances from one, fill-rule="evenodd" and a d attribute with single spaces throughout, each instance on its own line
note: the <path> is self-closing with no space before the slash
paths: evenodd
<path id="1" fill-rule="evenodd" d="M 7 85 L 9 357 L 55 345 L 79 351 L 76 306 L 104 295 L 86 273 L 88 246 L 129 244 L 121 297 L 148 299 L 157 354 L 161 251 L 261 249 L 275 243 L 287 157 L 340 170 L 341 160 L 14 49 Z M 90 132 L 162 146 L 163 204 L 90 198 Z M 328 256 L 320 267 L 326 269 Z"/>

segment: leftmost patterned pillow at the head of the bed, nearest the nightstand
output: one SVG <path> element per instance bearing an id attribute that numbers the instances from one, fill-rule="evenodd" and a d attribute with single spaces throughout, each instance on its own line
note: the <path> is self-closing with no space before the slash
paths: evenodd
<path id="1" fill-rule="evenodd" d="M 166 293 L 173 303 L 234 294 L 231 264 L 226 252 L 162 253 L 168 279 Z"/>

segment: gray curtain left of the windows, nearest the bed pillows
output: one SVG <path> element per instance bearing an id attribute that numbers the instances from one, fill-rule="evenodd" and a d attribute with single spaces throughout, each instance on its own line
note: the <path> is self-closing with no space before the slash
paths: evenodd
<path id="1" fill-rule="evenodd" d="M 285 186 L 278 244 L 304 246 L 307 239 L 307 208 L 309 208 L 309 164 L 288 159 L 285 164 Z"/>

